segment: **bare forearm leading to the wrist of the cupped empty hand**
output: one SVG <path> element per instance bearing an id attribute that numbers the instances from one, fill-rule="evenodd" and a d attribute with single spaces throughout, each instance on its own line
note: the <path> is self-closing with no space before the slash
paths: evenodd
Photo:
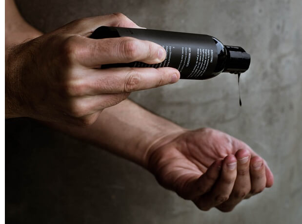
<path id="1" fill-rule="evenodd" d="M 93 125 L 85 128 L 50 125 L 143 167 L 146 167 L 151 145 L 183 131 L 180 126 L 144 110 L 130 100 L 105 109 Z"/>

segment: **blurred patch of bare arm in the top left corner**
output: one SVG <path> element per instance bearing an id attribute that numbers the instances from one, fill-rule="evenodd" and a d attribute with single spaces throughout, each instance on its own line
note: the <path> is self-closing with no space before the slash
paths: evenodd
<path id="1" fill-rule="evenodd" d="M 21 17 L 14 0 L 5 0 L 5 53 L 7 48 L 40 35 Z"/>

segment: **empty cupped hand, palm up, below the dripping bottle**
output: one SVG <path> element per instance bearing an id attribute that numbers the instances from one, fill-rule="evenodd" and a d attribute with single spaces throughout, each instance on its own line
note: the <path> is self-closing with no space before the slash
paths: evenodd
<path id="1" fill-rule="evenodd" d="M 273 185 L 266 162 L 248 145 L 209 128 L 163 138 L 147 155 L 158 182 L 201 210 L 231 211 Z"/>

